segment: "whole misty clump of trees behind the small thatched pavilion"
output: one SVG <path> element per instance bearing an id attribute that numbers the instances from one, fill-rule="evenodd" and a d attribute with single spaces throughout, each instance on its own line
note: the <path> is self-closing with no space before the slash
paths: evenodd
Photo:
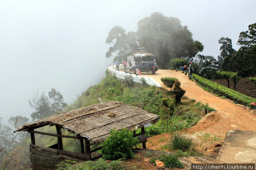
<path id="1" fill-rule="evenodd" d="M 179 19 L 159 12 L 139 20 L 136 34 L 128 32 L 126 35 L 122 27 L 114 26 L 106 43 L 112 45 L 106 58 L 126 60 L 127 56 L 138 51 L 138 47 L 144 47 L 155 55 L 157 64 L 163 69 L 170 67 L 170 59 L 192 60 L 204 48 L 202 43 L 193 40 L 192 33 L 187 26 L 181 25 Z"/>

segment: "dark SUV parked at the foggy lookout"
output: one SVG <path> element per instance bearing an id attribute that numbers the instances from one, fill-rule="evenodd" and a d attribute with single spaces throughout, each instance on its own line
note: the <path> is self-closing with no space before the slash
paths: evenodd
<path id="1" fill-rule="evenodd" d="M 136 66 L 130 67 L 129 71 L 136 74 L 136 68 L 139 68 L 140 72 L 147 72 L 149 75 L 154 74 L 158 70 L 158 66 L 154 62 L 141 62 Z"/>

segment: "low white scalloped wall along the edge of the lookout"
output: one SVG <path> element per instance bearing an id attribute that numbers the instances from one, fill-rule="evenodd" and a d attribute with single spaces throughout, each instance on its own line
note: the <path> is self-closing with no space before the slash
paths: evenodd
<path id="1" fill-rule="evenodd" d="M 122 66 L 123 64 L 119 65 L 119 69 L 124 69 L 124 66 Z M 141 76 L 136 76 L 135 74 L 129 74 L 129 73 L 125 73 L 125 72 L 121 72 L 121 71 L 117 71 L 116 70 L 116 65 L 114 66 L 110 66 L 109 67 L 109 72 L 111 72 L 112 75 L 115 75 L 117 78 L 120 79 L 125 79 L 125 76 L 132 76 L 132 80 L 133 82 L 137 82 L 137 83 L 142 83 L 141 79 L 144 79 L 145 82 L 151 86 L 157 86 L 157 87 L 162 87 L 160 84 L 158 84 L 153 78 L 147 78 L 146 76 L 141 77 Z"/>

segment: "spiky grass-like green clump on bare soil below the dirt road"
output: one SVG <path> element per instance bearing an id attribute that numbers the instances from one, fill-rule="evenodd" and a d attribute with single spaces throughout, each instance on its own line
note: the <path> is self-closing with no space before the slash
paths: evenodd
<path id="1" fill-rule="evenodd" d="M 170 137 L 169 147 L 171 150 L 187 151 L 192 145 L 192 139 L 186 137 L 185 134 L 173 133 Z"/>

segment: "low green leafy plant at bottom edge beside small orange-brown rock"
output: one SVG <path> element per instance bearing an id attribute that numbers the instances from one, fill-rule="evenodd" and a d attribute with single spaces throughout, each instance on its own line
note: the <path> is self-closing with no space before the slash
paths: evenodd
<path id="1" fill-rule="evenodd" d="M 184 168 L 182 163 L 178 160 L 176 155 L 174 154 L 163 154 L 158 157 L 154 157 L 150 160 L 151 163 L 155 164 L 155 160 L 162 161 L 165 163 L 165 167 L 170 167 L 170 168 Z"/>

